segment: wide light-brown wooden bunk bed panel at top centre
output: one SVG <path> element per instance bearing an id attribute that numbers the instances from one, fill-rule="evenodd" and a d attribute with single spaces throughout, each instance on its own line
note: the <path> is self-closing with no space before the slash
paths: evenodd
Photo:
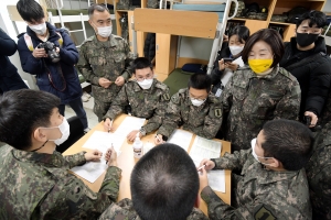
<path id="1" fill-rule="evenodd" d="M 213 12 L 135 9 L 136 31 L 214 38 L 218 16 Z"/>

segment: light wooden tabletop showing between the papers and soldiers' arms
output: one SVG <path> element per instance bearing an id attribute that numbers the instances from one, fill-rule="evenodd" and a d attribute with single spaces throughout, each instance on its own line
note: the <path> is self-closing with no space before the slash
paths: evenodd
<path id="1" fill-rule="evenodd" d="M 119 124 L 122 122 L 122 120 L 128 117 L 126 114 L 121 114 L 117 117 L 117 119 L 114 121 L 113 127 L 117 129 Z M 94 129 L 92 129 L 87 134 L 85 134 L 82 139 L 79 139 L 74 145 L 72 145 L 70 148 L 67 148 L 63 155 L 71 155 L 78 153 L 81 151 L 92 151 L 89 148 L 83 148 L 82 146 L 84 143 L 88 140 L 88 138 L 92 135 L 94 131 L 104 131 L 104 122 L 100 122 L 97 124 Z M 129 132 L 129 131 L 128 131 Z M 193 135 L 193 139 L 190 143 L 189 152 L 191 151 L 193 141 L 196 135 Z M 146 135 L 141 139 L 142 142 L 151 142 L 153 143 L 154 140 L 154 133 Z M 225 152 L 231 152 L 231 144 L 229 142 L 226 141 L 221 141 L 222 142 L 222 152 L 221 155 L 224 155 Z M 110 145 L 109 145 L 110 147 Z M 130 191 L 130 175 L 131 170 L 138 160 L 134 157 L 134 150 L 132 150 L 132 142 L 125 141 L 121 148 L 121 154 L 117 158 L 118 167 L 121 168 L 121 179 L 120 179 L 120 185 L 119 185 L 119 195 L 118 195 L 118 200 L 121 200 L 124 198 L 131 198 L 131 191 Z M 79 176 L 78 176 L 79 177 Z M 103 180 L 105 177 L 105 173 L 93 184 L 79 177 L 93 191 L 98 193 Z M 225 194 L 216 191 L 216 194 L 223 199 L 224 202 L 228 204 L 231 202 L 231 170 L 225 170 Z M 199 194 L 200 195 L 200 194 Z M 206 204 L 200 199 L 200 209 L 207 215 L 207 207 Z"/>

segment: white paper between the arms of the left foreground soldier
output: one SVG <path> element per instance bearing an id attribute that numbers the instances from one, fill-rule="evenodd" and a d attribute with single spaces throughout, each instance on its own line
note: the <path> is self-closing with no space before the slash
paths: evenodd
<path id="1" fill-rule="evenodd" d="M 99 162 L 87 162 L 83 166 L 75 166 L 71 170 L 89 183 L 94 183 L 107 169 L 106 160 Z"/>

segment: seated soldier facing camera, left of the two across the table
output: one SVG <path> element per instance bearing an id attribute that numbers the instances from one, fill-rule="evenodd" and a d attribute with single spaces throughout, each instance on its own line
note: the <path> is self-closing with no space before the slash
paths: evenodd
<path id="1" fill-rule="evenodd" d="M 128 81 L 121 88 L 104 117 L 105 130 L 109 130 L 110 120 L 122 113 L 125 107 L 130 105 L 130 113 L 134 117 L 147 119 L 147 124 L 141 127 L 139 131 L 135 130 L 128 134 L 129 141 L 134 141 L 138 132 L 141 138 L 159 129 L 170 100 L 168 86 L 153 78 L 152 65 L 148 58 L 135 59 L 132 70 L 136 79 Z"/>

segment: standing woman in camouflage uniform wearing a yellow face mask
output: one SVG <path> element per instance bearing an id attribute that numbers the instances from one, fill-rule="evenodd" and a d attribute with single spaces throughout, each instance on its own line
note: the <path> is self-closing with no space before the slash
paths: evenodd
<path id="1" fill-rule="evenodd" d="M 282 40 L 275 30 L 256 32 L 246 42 L 242 58 L 250 68 L 238 68 L 221 95 L 224 113 L 228 113 L 225 140 L 231 142 L 232 151 L 249 148 L 249 140 L 265 122 L 298 118 L 300 86 L 278 66 L 282 52 Z"/>

